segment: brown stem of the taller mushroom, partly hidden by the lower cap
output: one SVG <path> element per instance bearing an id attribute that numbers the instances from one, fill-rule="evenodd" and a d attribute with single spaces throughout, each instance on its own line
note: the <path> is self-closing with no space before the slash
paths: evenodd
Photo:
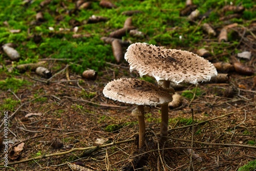
<path id="1" fill-rule="evenodd" d="M 170 86 L 170 81 L 164 80 L 163 81 L 163 88 L 168 89 Z M 161 127 L 160 133 L 162 136 L 167 136 L 168 134 L 168 103 L 161 105 Z M 166 138 L 161 137 L 160 142 L 164 143 Z"/>

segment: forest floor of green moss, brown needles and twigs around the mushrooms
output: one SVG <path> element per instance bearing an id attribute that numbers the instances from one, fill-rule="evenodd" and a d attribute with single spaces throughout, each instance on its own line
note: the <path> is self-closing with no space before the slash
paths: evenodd
<path id="1" fill-rule="evenodd" d="M 0 2 L 0 155 L 5 170 L 254 170 L 256 168 L 256 6 L 246 1 Z M 231 6 L 231 7 L 230 7 Z M 188 8 L 189 7 L 189 8 Z M 235 8 L 233 8 L 235 7 Z M 184 9 L 188 9 L 187 11 Z M 241 9 L 242 8 L 242 9 Z M 193 9 L 193 10 L 192 10 Z M 199 15 L 189 19 L 195 10 Z M 130 11 L 130 14 L 124 14 Z M 131 12 L 132 11 L 132 12 Z M 185 12 L 184 12 L 185 11 Z M 92 15 L 101 22 L 90 22 Z M 215 64 L 209 83 L 174 85 L 165 144 L 160 107 L 145 114 L 146 145 L 138 149 L 133 105 L 107 99 L 106 83 L 130 73 L 102 40 L 132 18 L 121 54 L 134 42 L 187 50 Z M 204 24 L 215 31 L 204 28 Z M 130 27 L 130 26 L 129 26 Z M 226 35 L 221 37 L 225 29 Z M 224 30 L 224 31 L 225 31 Z M 4 45 L 19 53 L 13 60 Z M 240 58 L 239 53 L 250 52 Z M 37 67 L 49 70 L 43 78 Z M 29 64 L 29 67 L 24 65 Z M 22 67 L 20 67 L 23 65 Z M 227 67 L 228 66 L 228 67 Z M 21 69 L 22 68 L 22 69 Z M 83 78 L 85 70 L 97 73 Z M 144 76 L 143 80 L 156 83 Z M 175 101 L 175 100 L 174 100 Z M 191 110 L 193 109 L 193 110 Z M 8 161 L 3 118 L 8 112 Z M 194 124 L 194 126 L 193 126 Z"/>

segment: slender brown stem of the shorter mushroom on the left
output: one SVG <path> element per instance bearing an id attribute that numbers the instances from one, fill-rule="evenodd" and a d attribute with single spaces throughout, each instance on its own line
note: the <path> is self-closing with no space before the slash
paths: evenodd
<path id="1" fill-rule="evenodd" d="M 145 118 L 144 118 L 144 105 L 138 105 L 138 112 L 141 115 L 138 116 L 139 120 L 139 148 L 145 144 Z"/>

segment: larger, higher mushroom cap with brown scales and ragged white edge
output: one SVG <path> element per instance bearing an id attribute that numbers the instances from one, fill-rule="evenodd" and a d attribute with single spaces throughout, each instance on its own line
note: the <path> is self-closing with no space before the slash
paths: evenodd
<path id="1" fill-rule="evenodd" d="M 152 76 L 157 81 L 196 84 L 218 74 L 212 63 L 197 54 L 140 42 L 128 47 L 124 59 L 130 63 L 131 72 L 137 70 L 140 76 Z"/>

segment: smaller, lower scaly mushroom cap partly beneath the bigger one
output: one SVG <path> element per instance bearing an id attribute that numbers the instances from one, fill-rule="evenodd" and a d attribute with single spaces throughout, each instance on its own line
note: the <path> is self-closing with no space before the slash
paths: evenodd
<path id="1" fill-rule="evenodd" d="M 168 91 L 135 78 L 113 80 L 106 84 L 103 94 L 113 100 L 137 105 L 159 105 L 173 100 L 172 94 Z"/>

